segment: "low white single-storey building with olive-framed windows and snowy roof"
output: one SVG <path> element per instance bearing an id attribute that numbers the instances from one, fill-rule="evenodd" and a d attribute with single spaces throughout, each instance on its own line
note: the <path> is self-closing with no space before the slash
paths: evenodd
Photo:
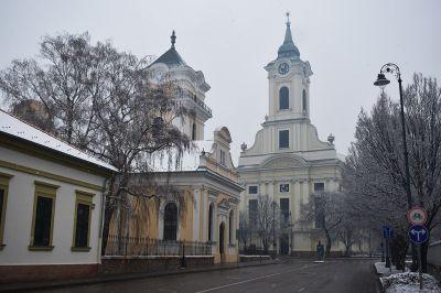
<path id="1" fill-rule="evenodd" d="M 0 283 L 96 274 L 115 171 L 0 110 Z"/>

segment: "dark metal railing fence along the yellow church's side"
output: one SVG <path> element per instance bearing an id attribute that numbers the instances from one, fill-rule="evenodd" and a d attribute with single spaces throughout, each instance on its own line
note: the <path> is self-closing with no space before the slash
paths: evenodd
<path id="1" fill-rule="evenodd" d="M 212 256 L 213 245 L 109 235 L 105 256 Z"/>

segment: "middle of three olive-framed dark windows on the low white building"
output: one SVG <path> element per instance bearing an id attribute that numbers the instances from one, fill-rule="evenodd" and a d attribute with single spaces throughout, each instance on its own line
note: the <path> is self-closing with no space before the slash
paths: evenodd
<path id="1" fill-rule="evenodd" d="M 35 181 L 34 207 L 29 250 L 52 250 L 55 198 L 58 185 Z"/>

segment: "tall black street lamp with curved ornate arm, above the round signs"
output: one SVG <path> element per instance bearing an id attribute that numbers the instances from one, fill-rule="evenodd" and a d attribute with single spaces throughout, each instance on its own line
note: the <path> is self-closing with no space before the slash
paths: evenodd
<path id="1" fill-rule="evenodd" d="M 375 86 L 384 89 L 390 80 L 386 78 L 385 73 L 394 74 L 398 80 L 399 93 L 400 93 L 400 106 L 401 106 L 401 129 L 402 129 L 402 150 L 405 154 L 405 169 L 406 169 L 406 193 L 407 193 L 407 205 L 410 209 L 412 207 L 412 194 L 410 192 L 410 173 L 409 173 L 409 153 L 407 151 L 407 142 L 406 142 L 406 123 L 405 123 L 405 107 L 402 102 L 402 86 L 401 86 L 401 73 L 399 67 L 394 63 L 387 63 L 383 65 L 379 70 L 377 80 L 374 83 Z"/>

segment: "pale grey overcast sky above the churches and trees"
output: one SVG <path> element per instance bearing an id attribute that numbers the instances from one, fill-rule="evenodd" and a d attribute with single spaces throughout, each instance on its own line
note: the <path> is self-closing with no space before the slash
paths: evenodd
<path id="1" fill-rule="evenodd" d="M 311 121 L 321 140 L 335 135 L 340 153 L 354 141 L 361 108 L 370 109 L 379 94 L 373 82 L 381 65 L 396 63 L 405 85 L 415 72 L 441 78 L 440 0 L 2 0 L 0 68 L 35 56 L 45 34 L 88 31 L 93 41 L 111 40 L 142 57 L 169 50 L 175 30 L 178 52 L 212 87 L 205 138 L 228 127 L 237 165 L 240 143 L 254 144 L 268 112 L 263 66 L 283 42 L 287 11 L 314 73 Z M 386 90 L 399 98 L 396 80 Z"/>

